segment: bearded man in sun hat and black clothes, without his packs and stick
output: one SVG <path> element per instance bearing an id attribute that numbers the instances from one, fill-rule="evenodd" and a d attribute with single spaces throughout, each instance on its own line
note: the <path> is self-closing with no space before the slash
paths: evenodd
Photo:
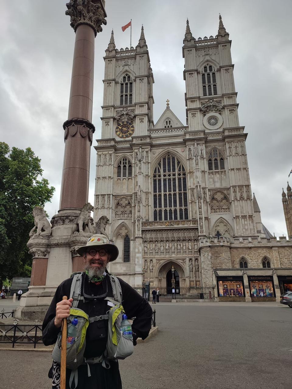
<path id="1" fill-rule="evenodd" d="M 105 235 L 95 234 L 86 246 L 77 249 L 84 258 L 85 272 L 82 275 L 81 296 L 78 308 L 84 310 L 89 317 L 105 315 L 111 308 L 104 297 L 113 298 L 110 277 L 106 265 L 118 257 L 118 248 L 109 243 Z M 63 281 L 57 288 L 55 296 L 49 306 L 42 325 L 42 340 L 44 345 L 56 342 L 61 331 L 62 320 L 69 317 L 73 299 L 62 300 L 63 296 L 70 296 L 70 287 L 73 277 Z M 151 329 L 152 309 L 149 303 L 140 296 L 130 285 L 118 278 L 122 292 L 122 305 L 128 318 L 135 317 L 132 324 L 133 342 L 137 338 L 145 339 Z M 95 358 L 101 356 L 107 343 L 108 319 L 93 321 L 86 331 L 86 347 L 84 357 Z M 66 389 L 70 388 L 69 377 L 71 370 L 67 370 Z M 90 375 L 90 377 L 88 377 Z M 60 365 L 53 361 L 49 371 L 53 378 L 52 388 L 59 389 Z M 73 386 L 74 387 L 74 386 Z M 76 389 L 121 389 L 121 377 L 118 361 L 110 361 L 110 368 L 106 369 L 101 363 L 90 364 L 88 374 L 87 364 L 78 367 L 78 383 Z"/>

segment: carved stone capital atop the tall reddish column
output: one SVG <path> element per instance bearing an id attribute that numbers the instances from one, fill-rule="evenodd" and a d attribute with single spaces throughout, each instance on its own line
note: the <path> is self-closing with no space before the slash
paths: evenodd
<path id="1" fill-rule="evenodd" d="M 102 26 L 106 25 L 106 11 L 102 0 L 70 0 L 66 4 L 68 10 L 66 15 L 70 16 L 70 26 L 76 32 L 81 24 L 86 24 L 93 28 L 95 37 L 98 32 L 102 32 Z"/>

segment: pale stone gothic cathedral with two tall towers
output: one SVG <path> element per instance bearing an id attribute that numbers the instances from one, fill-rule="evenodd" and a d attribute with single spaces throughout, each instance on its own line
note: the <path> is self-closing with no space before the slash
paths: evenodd
<path id="1" fill-rule="evenodd" d="M 132 286 L 142 284 L 143 269 L 150 284 L 168 286 L 174 266 L 179 286 L 217 285 L 222 298 L 248 300 L 257 282 L 248 277 L 270 277 L 266 289 L 273 289 L 274 298 L 274 269 L 292 265 L 291 242 L 272 237 L 252 196 L 230 46 L 221 16 L 215 37 L 195 39 L 187 21 L 186 125 L 168 99 L 155 123 L 143 27 L 136 47 L 117 49 L 111 34 L 95 146 L 94 219 L 108 217 L 109 237 L 120 251 L 109 270 Z M 250 268 L 257 270 L 248 273 Z"/>

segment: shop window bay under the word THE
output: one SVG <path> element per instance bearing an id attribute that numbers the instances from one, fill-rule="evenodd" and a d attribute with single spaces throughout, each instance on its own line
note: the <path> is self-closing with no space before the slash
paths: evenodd
<path id="1" fill-rule="evenodd" d="M 219 301 L 245 301 L 243 277 L 216 277 Z"/>

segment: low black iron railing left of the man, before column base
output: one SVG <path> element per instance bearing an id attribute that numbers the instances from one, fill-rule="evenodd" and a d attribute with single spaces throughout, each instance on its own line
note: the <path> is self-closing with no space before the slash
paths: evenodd
<path id="1" fill-rule="evenodd" d="M 0 343 L 30 344 L 35 349 L 38 343 L 42 343 L 42 327 L 38 324 L 0 324 Z"/>

